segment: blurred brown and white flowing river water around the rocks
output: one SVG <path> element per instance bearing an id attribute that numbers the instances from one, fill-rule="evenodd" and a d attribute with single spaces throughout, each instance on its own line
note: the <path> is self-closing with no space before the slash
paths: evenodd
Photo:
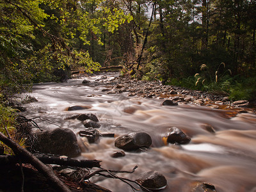
<path id="1" fill-rule="evenodd" d="M 117 76 L 111 74 L 108 79 Z M 95 81 L 101 76 L 87 77 Z M 102 168 L 132 170 L 122 177 L 136 179 L 143 172 L 156 170 L 163 173 L 168 186 L 162 191 L 190 191 L 198 182 L 213 184 L 216 191 L 256 191 L 256 115 L 241 113 L 230 118 L 221 109 L 204 106 L 161 106 L 161 99 L 127 97 L 127 93 L 107 94 L 103 86 L 82 84 L 83 79 L 68 83 L 49 83 L 33 86 L 38 102 L 28 104 L 28 117 L 43 116 L 61 127 L 74 132 L 83 129 L 78 120 L 65 117 L 94 113 L 100 120 L 100 132 L 115 132 L 116 136 L 134 131 L 145 131 L 152 137 L 152 147 L 147 152 L 125 152 L 125 157 L 112 158 L 118 150 L 115 138 L 101 138 L 99 143 L 86 144 L 79 158 L 102 160 Z M 69 106 L 87 106 L 89 109 L 67 111 Z M 38 122 L 45 129 L 56 127 Z M 216 133 L 204 129 L 211 125 Z M 191 138 L 188 145 L 164 145 L 162 140 L 168 128 L 176 126 Z M 77 136 L 81 142 L 83 139 Z M 132 189 L 115 179 L 94 177 L 91 181 L 115 192 Z"/>

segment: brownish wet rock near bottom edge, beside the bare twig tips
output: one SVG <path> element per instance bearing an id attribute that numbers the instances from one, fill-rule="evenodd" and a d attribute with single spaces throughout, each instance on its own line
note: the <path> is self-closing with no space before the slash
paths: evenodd
<path id="1" fill-rule="evenodd" d="M 167 185 L 164 175 L 156 171 L 143 173 L 136 181 L 140 183 L 141 186 L 152 190 L 164 189 Z"/>

